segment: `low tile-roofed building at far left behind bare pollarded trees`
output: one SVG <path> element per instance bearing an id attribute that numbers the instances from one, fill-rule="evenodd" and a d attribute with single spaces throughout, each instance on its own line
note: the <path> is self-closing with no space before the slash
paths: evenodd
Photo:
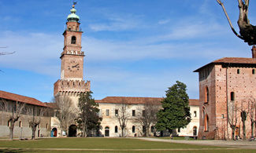
<path id="1" fill-rule="evenodd" d="M 7 104 L 8 111 L 0 110 L 0 137 L 9 137 L 9 115 L 17 111 L 17 102 L 25 104 L 25 107 L 21 113 L 21 117 L 15 122 L 14 137 L 18 138 L 31 138 L 32 128 L 29 126 L 27 110 L 33 108 L 35 110 L 35 116 L 39 115 L 39 110 L 45 108 L 47 112 L 41 117 L 41 122 L 36 129 L 35 137 L 50 137 L 50 110 L 47 104 L 36 100 L 32 97 L 24 97 L 14 93 L 8 93 L 0 90 L 0 107 L 3 104 Z"/>

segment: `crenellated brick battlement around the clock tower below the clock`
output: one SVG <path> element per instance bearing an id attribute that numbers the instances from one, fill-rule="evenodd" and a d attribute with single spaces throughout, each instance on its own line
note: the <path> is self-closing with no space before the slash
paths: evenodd
<path id="1" fill-rule="evenodd" d="M 80 93 L 90 91 L 91 82 L 84 80 L 62 80 L 54 83 L 54 95 L 58 93 L 66 96 L 77 96 Z"/>

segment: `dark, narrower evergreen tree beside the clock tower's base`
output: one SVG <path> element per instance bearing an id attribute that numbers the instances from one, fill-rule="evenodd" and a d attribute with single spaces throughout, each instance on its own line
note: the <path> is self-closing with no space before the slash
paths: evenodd
<path id="1" fill-rule="evenodd" d="M 78 118 L 76 121 L 79 124 L 80 129 L 82 129 L 82 137 L 87 137 L 88 134 L 94 131 L 99 131 L 100 122 L 102 118 L 99 117 L 98 104 L 95 103 L 95 99 L 91 97 L 91 91 L 87 93 L 80 94 L 78 102 Z"/>

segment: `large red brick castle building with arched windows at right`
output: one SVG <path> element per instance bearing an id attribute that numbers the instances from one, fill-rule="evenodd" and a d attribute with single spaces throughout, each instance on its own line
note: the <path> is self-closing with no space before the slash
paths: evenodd
<path id="1" fill-rule="evenodd" d="M 231 139 L 232 126 L 236 137 L 243 138 L 241 112 L 246 112 L 246 137 L 250 137 L 250 111 L 256 97 L 256 49 L 253 58 L 224 57 L 198 68 L 200 126 L 198 138 Z M 252 114 L 250 114 L 252 113 Z"/>

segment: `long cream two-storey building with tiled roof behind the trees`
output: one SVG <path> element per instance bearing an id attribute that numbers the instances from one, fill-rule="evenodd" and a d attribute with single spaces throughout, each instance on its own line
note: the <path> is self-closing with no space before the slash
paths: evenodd
<path id="1" fill-rule="evenodd" d="M 145 104 L 157 104 L 161 107 L 162 98 L 158 97 L 106 97 L 102 100 L 95 100 L 99 104 L 102 116 L 101 133 L 105 137 L 120 137 L 121 126 L 118 121 L 118 114 L 122 104 L 127 105 L 125 115 L 128 116 L 125 128 L 126 137 L 142 137 L 144 135 L 143 126 L 136 120 L 139 115 L 143 115 Z M 199 126 L 199 106 L 198 100 L 189 100 L 191 107 L 191 122 L 186 128 L 180 129 L 177 134 L 182 137 L 196 137 Z M 178 130 L 178 129 L 177 129 Z M 150 135 L 154 136 L 154 125 L 150 125 Z"/>

